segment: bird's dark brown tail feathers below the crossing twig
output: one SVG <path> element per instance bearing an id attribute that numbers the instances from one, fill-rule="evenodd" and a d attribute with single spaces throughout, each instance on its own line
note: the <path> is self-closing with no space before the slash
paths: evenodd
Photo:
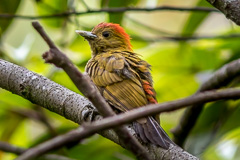
<path id="1" fill-rule="evenodd" d="M 174 144 L 153 117 L 147 117 L 146 123 L 134 122 L 133 124 L 136 133 L 144 143 L 151 142 L 164 149 L 168 149 L 170 144 Z"/>

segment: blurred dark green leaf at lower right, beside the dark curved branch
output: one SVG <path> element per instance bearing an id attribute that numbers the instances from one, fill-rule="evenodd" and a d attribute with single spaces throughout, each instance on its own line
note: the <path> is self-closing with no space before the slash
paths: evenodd
<path id="1" fill-rule="evenodd" d="M 235 112 L 229 102 L 211 103 L 198 119 L 185 148 L 192 154 L 200 154 L 213 142 L 218 142 L 225 133 L 239 126 L 239 112 L 233 116 Z"/>

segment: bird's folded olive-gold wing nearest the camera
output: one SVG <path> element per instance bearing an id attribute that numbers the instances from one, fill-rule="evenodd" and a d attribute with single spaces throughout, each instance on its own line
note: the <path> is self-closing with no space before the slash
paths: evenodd
<path id="1" fill-rule="evenodd" d="M 127 111 L 148 103 L 138 73 L 120 53 L 95 56 L 86 71 L 103 97 L 119 110 Z"/>

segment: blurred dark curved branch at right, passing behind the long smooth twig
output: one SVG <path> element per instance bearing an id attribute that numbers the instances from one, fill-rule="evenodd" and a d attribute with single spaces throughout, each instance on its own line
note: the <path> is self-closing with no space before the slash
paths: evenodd
<path id="1" fill-rule="evenodd" d="M 203 83 L 198 92 L 203 92 L 212 89 L 218 89 L 226 86 L 234 78 L 240 75 L 240 59 L 230 62 L 217 70 L 208 81 Z M 178 145 L 182 146 L 197 122 L 198 117 L 201 114 L 204 104 L 196 104 L 185 110 L 181 117 L 180 123 L 172 131 L 174 134 L 174 141 Z"/>

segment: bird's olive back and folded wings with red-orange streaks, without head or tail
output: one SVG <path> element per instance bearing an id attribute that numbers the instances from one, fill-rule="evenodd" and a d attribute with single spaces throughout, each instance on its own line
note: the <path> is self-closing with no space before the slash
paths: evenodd
<path id="1" fill-rule="evenodd" d="M 94 56 L 86 71 L 103 97 L 121 111 L 157 103 L 150 65 L 132 52 L 106 52 Z"/>

